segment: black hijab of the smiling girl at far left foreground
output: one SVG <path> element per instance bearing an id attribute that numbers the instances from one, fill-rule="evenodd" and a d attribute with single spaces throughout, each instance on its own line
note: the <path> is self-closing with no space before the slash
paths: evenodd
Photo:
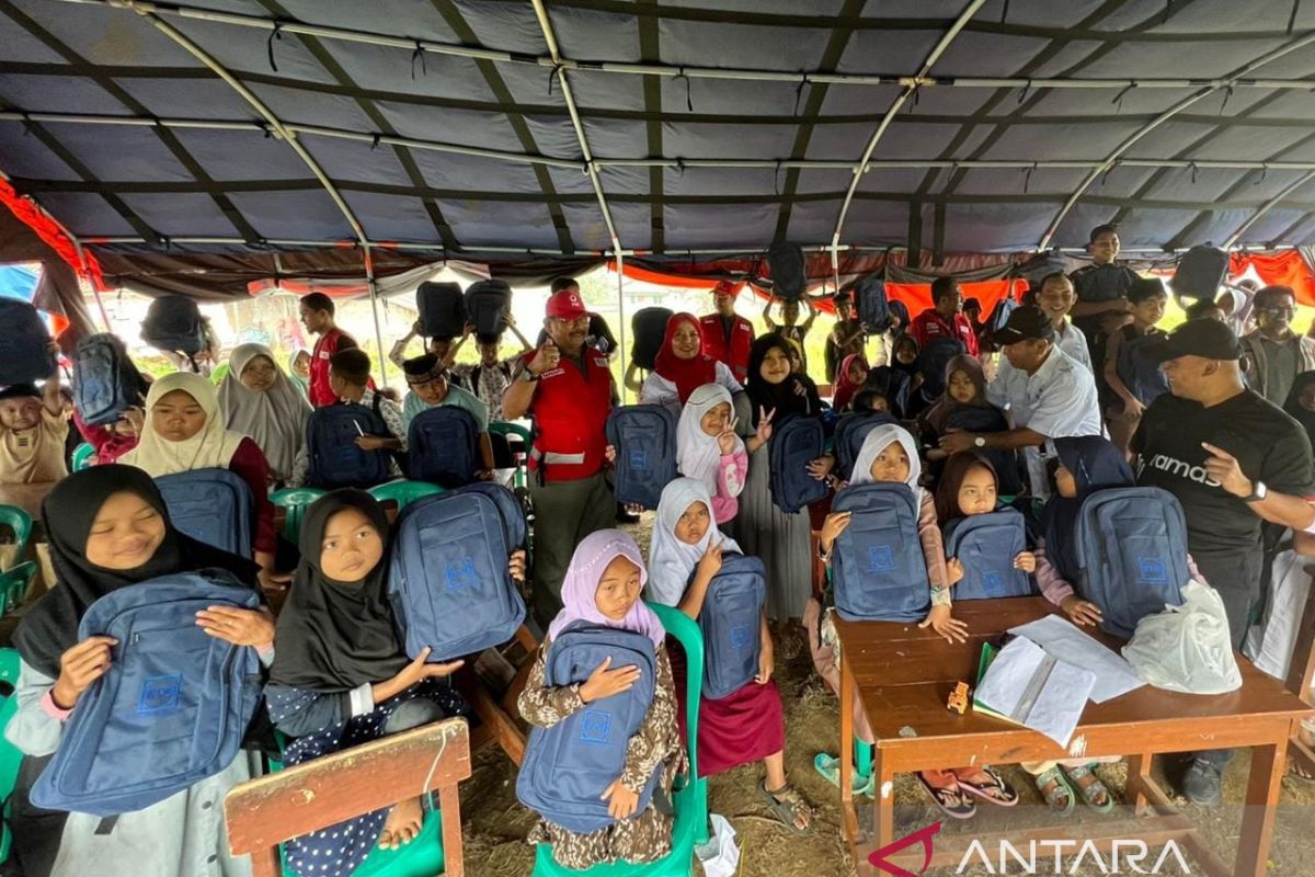
<path id="1" fill-rule="evenodd" d="M 128 492 L 145 500 L 164 518 L 164 540 L 135 569 L 105 569 L 87 560 L 87 536 L 110 494 Z M 87 607 L 112 590 L 180 572 L 225 569 L 255 586 L 259 567 L 179 533 L 155 481 L 134 465 L 93 465 L 55 485 L 41 506 L 50 542 L 50 563 L 59 582 L 33 606 L 13 634 L 28 665 L 59 676 L 59 656 L 78 643 L 78 623 Z"/>

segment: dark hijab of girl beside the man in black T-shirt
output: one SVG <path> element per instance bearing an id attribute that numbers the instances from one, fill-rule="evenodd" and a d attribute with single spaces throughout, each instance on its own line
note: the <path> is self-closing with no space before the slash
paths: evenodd
<path id="1" fill-rule="evenodd" d="M 1073 584 L 1080 569 L 1076 536 L 1082 501 L 1106 488 L 1134 486 L 1136 480 L 1123 452 L 1099 435 L 1055 439 L 1055 454 L 1060 465 L 1073 473 L 1077 497 L 1056 492 L 1045 504 L 1045 559 L 1061 579 Z"/>

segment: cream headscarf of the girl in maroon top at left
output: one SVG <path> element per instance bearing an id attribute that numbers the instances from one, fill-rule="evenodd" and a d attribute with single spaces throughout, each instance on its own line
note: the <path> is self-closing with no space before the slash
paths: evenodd
<path id="1" fill-rule="evenodd" d="M 155 431 L 151 410 L 174 391 L 180 389 L 205 412 L 205 425 L 185 442 L 171 442 Z M 191 472 L 192 469 L 226 469 L 238 444 L 246 437 L 224 429 L 220 400 L 214 384 L 192 372 L 172 372 L 158 377 L 146 394 L 146 423 L 142 438 L 132 451 L 118 458 L 120 463 L 145 469 L 151 477 Z"/>

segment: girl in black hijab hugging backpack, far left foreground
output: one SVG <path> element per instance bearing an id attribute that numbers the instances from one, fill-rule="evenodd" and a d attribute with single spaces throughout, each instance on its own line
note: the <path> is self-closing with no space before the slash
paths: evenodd
<path id="1" fill-rule="evenodd" d="M 252 776 L 243 755 L 184 792 L 121 814 L 112 831 L 101 831 L 101 819 L 91 814 L 36 810 L 28 789 L 59 747 L 64 721 L 83 692 L 109 669 L 108 638 L 78 640 L 78 625 L 93 602 L 149 579 L 201 569 L 222 571 L 254 588 L 258 567 L 175 530 L 155 481 L 129 465 L 68 476 L 46 497 L 42 519 L 57 585 L 14 631 L 22 657 L 18 709 L 5 728 L 25 756 L 11 820 L 24 873 L 237 873 L 241 863 L 230 857 L 214 815 L 227 790 Z M 263 609 L 214 607 L 200 613 L 197 625 L 226 642 L 258 647 L 263 660 L 272 656 L 274 618 Z M 203 869 L 193 866 L 206 860 Z"/>

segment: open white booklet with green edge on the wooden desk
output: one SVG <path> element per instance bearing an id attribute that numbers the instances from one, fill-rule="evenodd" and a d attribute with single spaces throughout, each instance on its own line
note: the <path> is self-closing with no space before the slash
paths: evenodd
<path id="1" fill-rule="evenodd" d="M 1068 748 L 1094 685 L 1091 671 L 1019 636 L 995 655 L 973 698 Z"/>

